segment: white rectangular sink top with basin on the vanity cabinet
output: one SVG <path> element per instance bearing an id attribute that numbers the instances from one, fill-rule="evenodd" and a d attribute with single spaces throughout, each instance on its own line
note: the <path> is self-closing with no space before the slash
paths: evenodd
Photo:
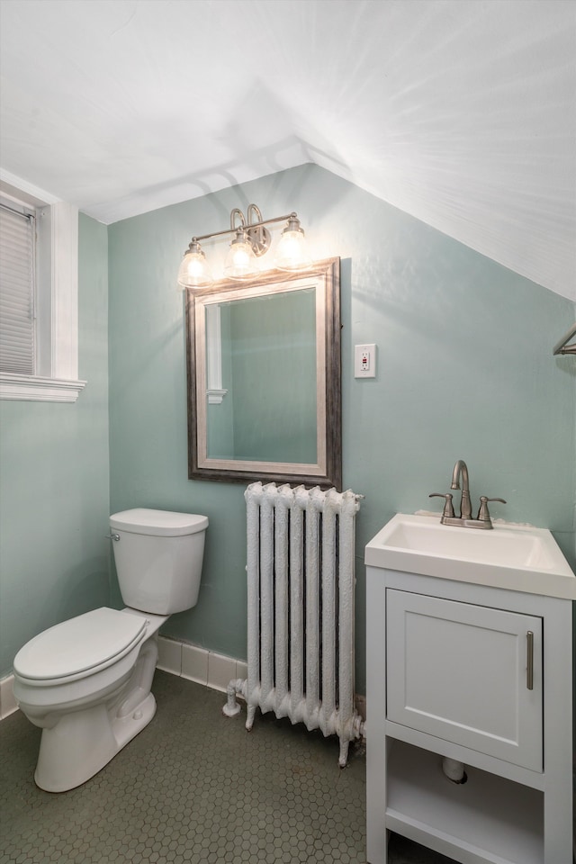
<path id="1" fill-rule="evenodd" d="M 576 599 L 576 576 L 550 531 L 517 525 L 491 530 L 399 513 L 366 546 L 365 563 L 386 570 Z"/>

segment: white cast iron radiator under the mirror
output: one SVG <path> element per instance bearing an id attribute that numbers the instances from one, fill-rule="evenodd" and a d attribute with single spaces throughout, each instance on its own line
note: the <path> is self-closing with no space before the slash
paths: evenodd
<path id="1" fill-rule="evenodd" d="M 227 716 L 247 701 L 338 734 L 339 764 L 364 732 L 354 707 L 355 517 L 362 496 L 252 483 L 247 501 L 247 680 L 232 680 Z"/>

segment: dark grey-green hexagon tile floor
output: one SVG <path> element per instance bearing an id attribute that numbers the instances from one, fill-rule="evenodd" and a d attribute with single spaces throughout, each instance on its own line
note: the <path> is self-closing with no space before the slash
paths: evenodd
<path id="1" fill-rule="evenodd" d="M 0 725 L 0 864 L 365 864 L 365 757 L 302 725 L 221 714 L 225 694 L 157 672 L 157 714 L 96 777 L 34 784 L 40 730 Z M 241 717 L 245 718 L 243 710 Z M 391 864 L 449 864 L 392 835 Z"/>

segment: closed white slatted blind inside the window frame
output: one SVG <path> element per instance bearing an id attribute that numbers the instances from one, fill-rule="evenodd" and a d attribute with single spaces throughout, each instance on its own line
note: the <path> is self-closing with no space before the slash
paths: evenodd
<path id="1" fill-rule="evenodd" d="M 0 371 L 34 374 L 34 217 L 0 203 Z"/>

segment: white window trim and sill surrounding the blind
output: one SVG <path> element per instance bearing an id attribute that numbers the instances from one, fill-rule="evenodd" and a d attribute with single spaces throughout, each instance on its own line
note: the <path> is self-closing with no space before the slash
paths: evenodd
<path id="1" fill-rule="evenodd" d="M 0 399 L 76 402 L 78 379 L 78 210 L 0 170 L 0 189 L 50 209 L 51 357 L 49 376 L 0 373 Z"/>

